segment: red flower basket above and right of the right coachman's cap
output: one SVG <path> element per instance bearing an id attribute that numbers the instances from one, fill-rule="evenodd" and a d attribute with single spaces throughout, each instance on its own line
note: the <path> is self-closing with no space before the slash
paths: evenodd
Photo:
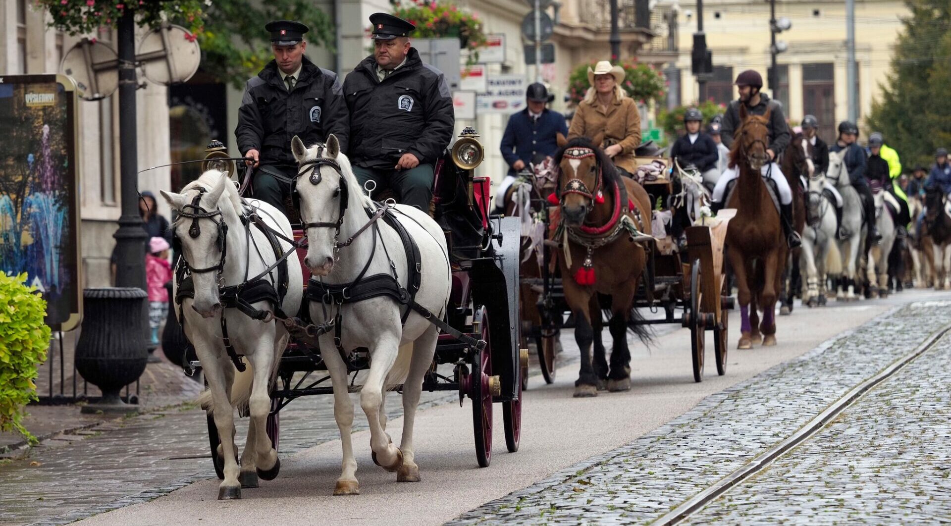
<path id="1" fill-rule="evenodd" d="M 417 38 L 458 38 L 460 49 L 469 49 L 467 65 L 478 62 L 478 49 L 486 45 L 482 22 L 476 12 L 459 10 L 448 2 L 407 0 L 394 5 L 393 14 L 415 25 Z"/>

